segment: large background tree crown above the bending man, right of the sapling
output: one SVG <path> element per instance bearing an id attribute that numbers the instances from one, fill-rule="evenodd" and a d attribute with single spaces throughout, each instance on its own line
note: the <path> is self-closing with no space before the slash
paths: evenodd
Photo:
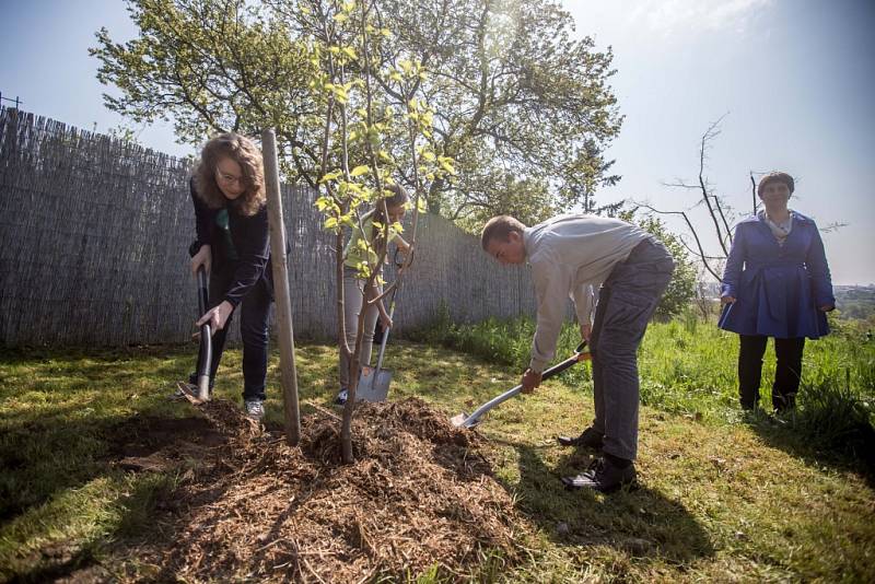
<path id="1" fill-rule="evenodd" d="M 604 157 L 621 121 L 607 85 L 610 50 L 573 39 L 571 16 L 558 3 L 382 4 L 399 32 L 387 58 L 412 58 L 431 73 L 424 93 L 435 107 L 438 142 L 457 164 L 452 180 L 432 183 L 432 209 L 453 219 L 509 212 L 514 185 L 525 182 L 548 195 L 549 205 L 535 197 L 525 213 L 538 220 L 618 179 Z"/>

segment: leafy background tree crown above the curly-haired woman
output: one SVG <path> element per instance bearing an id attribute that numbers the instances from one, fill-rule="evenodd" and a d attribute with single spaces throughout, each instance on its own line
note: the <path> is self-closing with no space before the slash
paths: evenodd
<path id="1" fill-rule="evenodd" d="M 177 138 L 255 135 L 276 127 L 284 145 L 314 114 L 313 66 L 288 23 L 240 0 L 132 0 L 139 37 L 114 43 L 106 28 L 91 54 L 97 79 L 115 85 L 106 106 L 135 121 L 173 120 Z"/>

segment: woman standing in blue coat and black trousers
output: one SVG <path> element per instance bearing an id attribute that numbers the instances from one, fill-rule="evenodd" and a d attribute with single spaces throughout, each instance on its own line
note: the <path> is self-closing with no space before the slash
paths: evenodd
<path id="1" fill-rule="evenodd" d="M 788 209 L 793 177 L 771 173 L 757 194 L 763 210 L 735 229 L 723 273 L 720 328 L 737 332 L 738 390 L 742 407 L 759 402 L 766 341 L 774 338 L 777 358 L 772 406 L 795 406 L 805 338 L 829 334 L 826 313 L 833 309 L 832 282 L 817 225 Z"/>

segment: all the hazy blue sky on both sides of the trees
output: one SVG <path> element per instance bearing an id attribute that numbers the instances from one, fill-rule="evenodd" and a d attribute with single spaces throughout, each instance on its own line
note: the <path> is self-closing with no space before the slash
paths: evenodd
<path id="1" fill-rule="evenodd" d="M 607 155 L 622 179 L 598 191 L 598 203 L 691 207 L 690 191 L 665 185 L 697 180 L 702 133 L 723 116 L 704 173 L 715 192 L 749 213 L 749 172 L 789 172 L 791 208 L 821 227 L 844 223 L 824 233 L 833 283 L 875 282 L 875 1 L 562 3 L 575 34 L 614 51 L 610 85 L 625 121 Z M 150 148 L 194 153 L 168 124 L 133 126 L 103 106 L 112 89 L 97 82 L 88 48 L 102 26 L 117 42 L 137 34 L 121 0 L 0 0 L 0 14 L 3 97 L 85 129 L 127 124 Z"/>

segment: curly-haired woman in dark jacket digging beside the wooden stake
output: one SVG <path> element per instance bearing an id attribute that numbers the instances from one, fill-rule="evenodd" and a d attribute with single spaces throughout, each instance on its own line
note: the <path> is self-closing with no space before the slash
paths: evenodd
<path id="1" fill-rule="evenodd" d="M 197 323 L 209 323 L 214 331 L 210 389 L 231 317 L 240 307 L 243 399 L 246 413 L 259 419 L 265 412 L 268 316 L 273 300 L 261 152 L 243 136 L 219 135 L 203 147 L 189 187 L 197 231 L 191 272 L 202 266 L 210 277 L 211 307 Z M 189 382 L 195 381 L 192 374 Z"/>

